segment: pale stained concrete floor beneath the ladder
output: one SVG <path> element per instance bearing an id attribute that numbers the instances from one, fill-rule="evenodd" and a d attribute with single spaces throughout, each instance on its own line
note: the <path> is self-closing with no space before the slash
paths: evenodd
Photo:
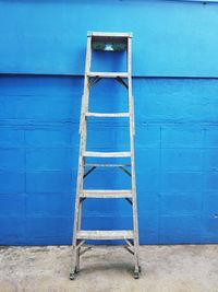
<path id="1" fill-rule="evenodd" d="M 120 246 L 94 247 L 69 280 L 69 246 L 0 247 L 0 292 L 218 292 L 218 245 L 141 246 L 142 276 Z"/>

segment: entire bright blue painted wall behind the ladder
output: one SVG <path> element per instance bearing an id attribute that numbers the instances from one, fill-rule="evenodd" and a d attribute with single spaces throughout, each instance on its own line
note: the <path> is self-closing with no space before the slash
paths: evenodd
<path id="1" fill-rule="evenodd" d="M 118 13 L 114 8 L 122 8 L 123 16 L 112 23 L 108 19 L 98 22 L 96 7 L 102 13 L 107 9 Z M 217 243 L 218 81 L 211 77 L 217 77 L 218 68 L 214 37 L 218 5 L 0 1 L 0 22 L 9 24 L 9 9 L 13 21 L 0 25 L 0 244 L 71 243 L 83 91 L 83 77 L 77 74 L 84 68 L 86 31 L 111 27 L 135 35 L 141 244 Z M 190 75 L 204 78 L 186 78 Z M 120 84 L 109 94 L 111 82 L 101 81 L 94 87 L 90 108 L 125 107 Z M 90 120 L 89 149 L 126 149 L 125 124 L 113 120 L 111 125 L 102 120 L 96 127 Z M 121 172 L 107 175 L 106 179 L 96 171 L 87 184 L 128 186 L 128 176 Z M 131 226 L 125 201 L 87 200 L 84 206 L 87 229 Z"/>

